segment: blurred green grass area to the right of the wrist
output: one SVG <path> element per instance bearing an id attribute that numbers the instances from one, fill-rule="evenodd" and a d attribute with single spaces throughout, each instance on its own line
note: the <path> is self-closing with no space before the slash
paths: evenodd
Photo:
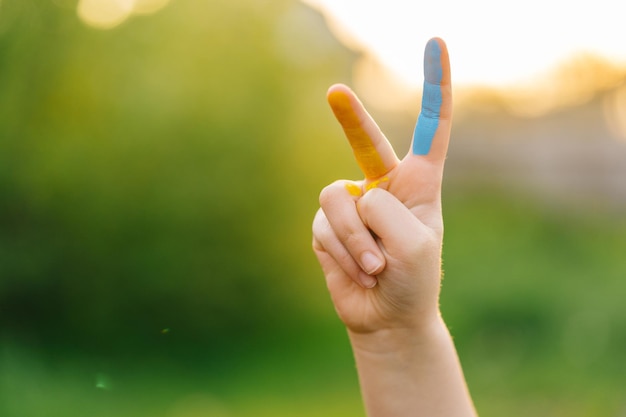
<path id="1" fill-rule="evenodd" d="M 624 217 L 445 195 L 442 309 L 482 415 L 621 416 Z"/>

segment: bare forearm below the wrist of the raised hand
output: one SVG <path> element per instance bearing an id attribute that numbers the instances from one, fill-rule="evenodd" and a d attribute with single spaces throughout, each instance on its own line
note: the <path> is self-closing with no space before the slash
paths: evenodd
<path id="1" fill-rule="evenodd" d="M 349 333 L 369 417 L 475 417 L 442 320 L 418 331 Z"/>

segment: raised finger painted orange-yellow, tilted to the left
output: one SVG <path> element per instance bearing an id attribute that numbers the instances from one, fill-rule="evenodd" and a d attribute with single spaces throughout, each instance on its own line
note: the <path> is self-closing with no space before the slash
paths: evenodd
<path id="1" fill-rule="evenodd" d="M 327 99 L 365 178 L 376 180 L 391 171 L 398 157 L 356 95 L 345 85 L 336 84 L 328 90 Z"/>

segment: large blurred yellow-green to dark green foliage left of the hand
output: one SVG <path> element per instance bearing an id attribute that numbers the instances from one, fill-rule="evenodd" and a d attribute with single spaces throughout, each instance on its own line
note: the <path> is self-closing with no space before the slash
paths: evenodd
<path id="1" fill-rule="evenodd" d="M 223 349 L 302 311 L 320 157 L 343 145 L 324 92 L 353 59 L 320 16 L 180 0 L 98 31 L 52 1 L 1 11 L 6 337 Z"/>

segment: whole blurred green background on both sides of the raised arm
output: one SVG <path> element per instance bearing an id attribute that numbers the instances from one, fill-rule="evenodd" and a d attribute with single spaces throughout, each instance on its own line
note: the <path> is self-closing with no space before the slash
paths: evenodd
<path id="1" fill-rule="evenodd" d="M 310 250 L 319 190 L 359 177 L 324 98 L 356 59 L 291 0 L 112 30 L 0 0 L 0 416 L 363 415 Z M 539 120 L 459 110 L 442 308 L 482 415 L 626 415 L 623 202 L 476 156 L 595 126 L 576 115 L 613 87 Z M 417 111 L 374 115 L 402 148 Z"/>

